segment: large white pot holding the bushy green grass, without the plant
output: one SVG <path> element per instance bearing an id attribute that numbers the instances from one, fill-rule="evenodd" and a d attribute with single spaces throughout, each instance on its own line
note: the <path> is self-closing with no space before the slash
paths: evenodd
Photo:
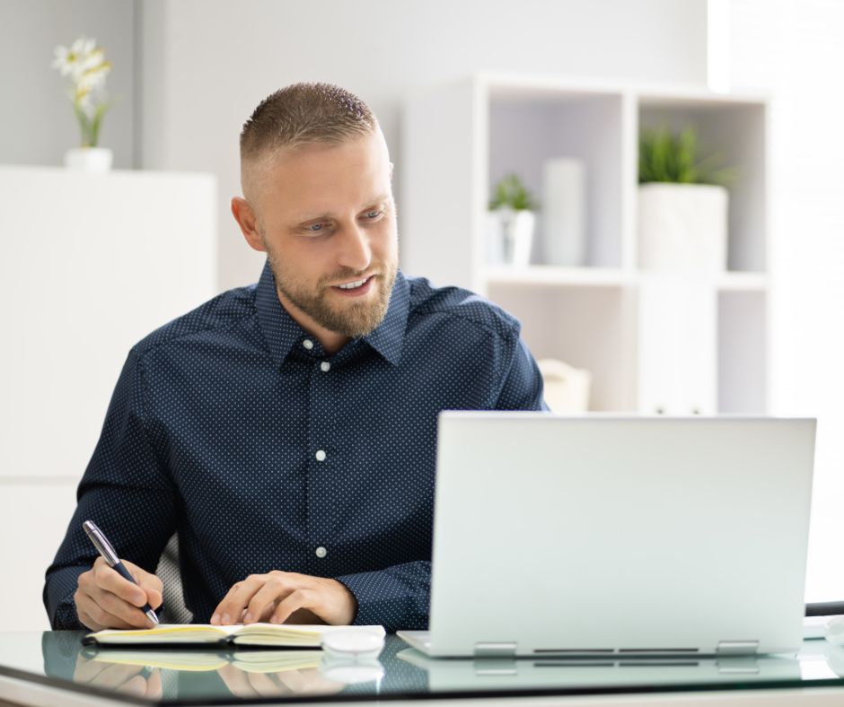
<path id="1" fill-rule="evenodd" d="M 727 191 L 711 184 L 639 186 L 638 261 L 648 270 L 726 268 Z"/>

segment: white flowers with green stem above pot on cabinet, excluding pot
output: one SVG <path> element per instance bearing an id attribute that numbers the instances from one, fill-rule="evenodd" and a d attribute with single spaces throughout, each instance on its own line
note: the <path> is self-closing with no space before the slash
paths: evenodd
<path id="1" fill-rule="evenodd" d="M 52 67 L 70 78 L 68 92 L 82 130 L 82 146 L 95 147 L 102 117 L 110 108 L 105 100 L 105 81 L 111 65 L 96 39 L 80 37 L 67 47 L 57 47 Z"/>

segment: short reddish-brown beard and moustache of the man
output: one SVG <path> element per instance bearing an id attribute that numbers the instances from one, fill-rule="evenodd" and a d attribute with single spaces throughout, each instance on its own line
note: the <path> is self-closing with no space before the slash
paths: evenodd
<path id="1" fill-rule="evenodd" d="M 266 242 L 265 242 L 266 247 Z M 332 283 L 359 280 L 364 273 L 350 268 L 321 277 L 316 284 L 297 279 L 286 272 L 284 258 L 272 250 L 267 250 L 269 266 L 276 278 L 276 289 L 291 301 L 299 310 L 308 315 L 321 327 L 339 334 L 356 338 L 366 336 L 383 321 L 390 307 L 392 285 L 396 281 L 399 266 L 397 261 L 374 262 L 366 272 L 374 273 L 371 286 L 376 287 L 374 301 L 347 301 L 345 306 L 332 304 L 330 288 Z"/>

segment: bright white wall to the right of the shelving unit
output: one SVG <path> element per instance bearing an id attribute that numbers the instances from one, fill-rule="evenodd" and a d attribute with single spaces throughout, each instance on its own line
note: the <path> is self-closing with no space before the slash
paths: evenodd
<path id="1" fill-rule="evenodd" d="M 731 0 L 730 79 L 774 93 L 771 411 L 818 418 L 806 598 L 844 600 L 844 3 Z"/>

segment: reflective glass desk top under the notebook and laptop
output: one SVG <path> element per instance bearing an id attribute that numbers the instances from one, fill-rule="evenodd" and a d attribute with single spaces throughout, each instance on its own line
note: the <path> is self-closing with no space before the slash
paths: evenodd
<path id="1" fill-rule="evenodd" d="M 388 636 L 379 659 L 356 662 L 320 650 L 97 650 L 83 635 L 0 633 L 0 676 L 139 704 L 844 688 L 844 649 L 825 641 L 797 657 L 434 660 Z"/>

